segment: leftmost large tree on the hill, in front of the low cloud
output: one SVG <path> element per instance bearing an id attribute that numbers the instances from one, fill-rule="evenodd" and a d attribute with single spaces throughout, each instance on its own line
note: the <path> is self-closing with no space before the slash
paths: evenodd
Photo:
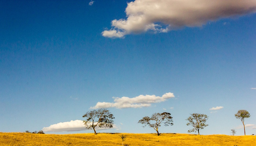
<path id="1" fill-rule="evenodd" d="M 87 118 L 86 120 L 83 120 L 85 127 L 89 130 L 93 129 L 95 135 L 97 134 L 95 131 L 95 127 L 97 126 L 100 128 L 113 127 L 112 119 L 114 119 L 114 116 L 105 108 L 86 112 L 86 114 L 83 115 L 83 118 Z"/>

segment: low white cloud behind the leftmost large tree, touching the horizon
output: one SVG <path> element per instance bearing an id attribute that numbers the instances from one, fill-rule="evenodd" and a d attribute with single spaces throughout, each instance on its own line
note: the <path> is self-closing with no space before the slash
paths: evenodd
<path id="1" fill-rule="evenodd" d="M 113 128 L 116 129 L 117 126 L 114 124 Z M 96 130 L 106 130 L 109 128 L 99 128 L 96 127 Z M 84 123 L 82 120 L 71 120 L 70 122 L 60 122 L 57 124 L 50 125 L 49 127 L 42 128 L 42 131 L 49 132 L 62 132 L 62 131 L 82 131 L 87 130 L 84 126 Z"/>

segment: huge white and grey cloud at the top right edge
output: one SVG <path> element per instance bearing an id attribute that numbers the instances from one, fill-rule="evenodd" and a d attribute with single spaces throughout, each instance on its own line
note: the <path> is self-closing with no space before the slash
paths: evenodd
<path id="1" fill-rule="evenodd" d="M 127 19 L 112 20 L 112 28 L 102 35 L 121 38 L 132 32 L 167 32 L 254 12 L 256 0 L 135 0 L 127 4 Z"/>

